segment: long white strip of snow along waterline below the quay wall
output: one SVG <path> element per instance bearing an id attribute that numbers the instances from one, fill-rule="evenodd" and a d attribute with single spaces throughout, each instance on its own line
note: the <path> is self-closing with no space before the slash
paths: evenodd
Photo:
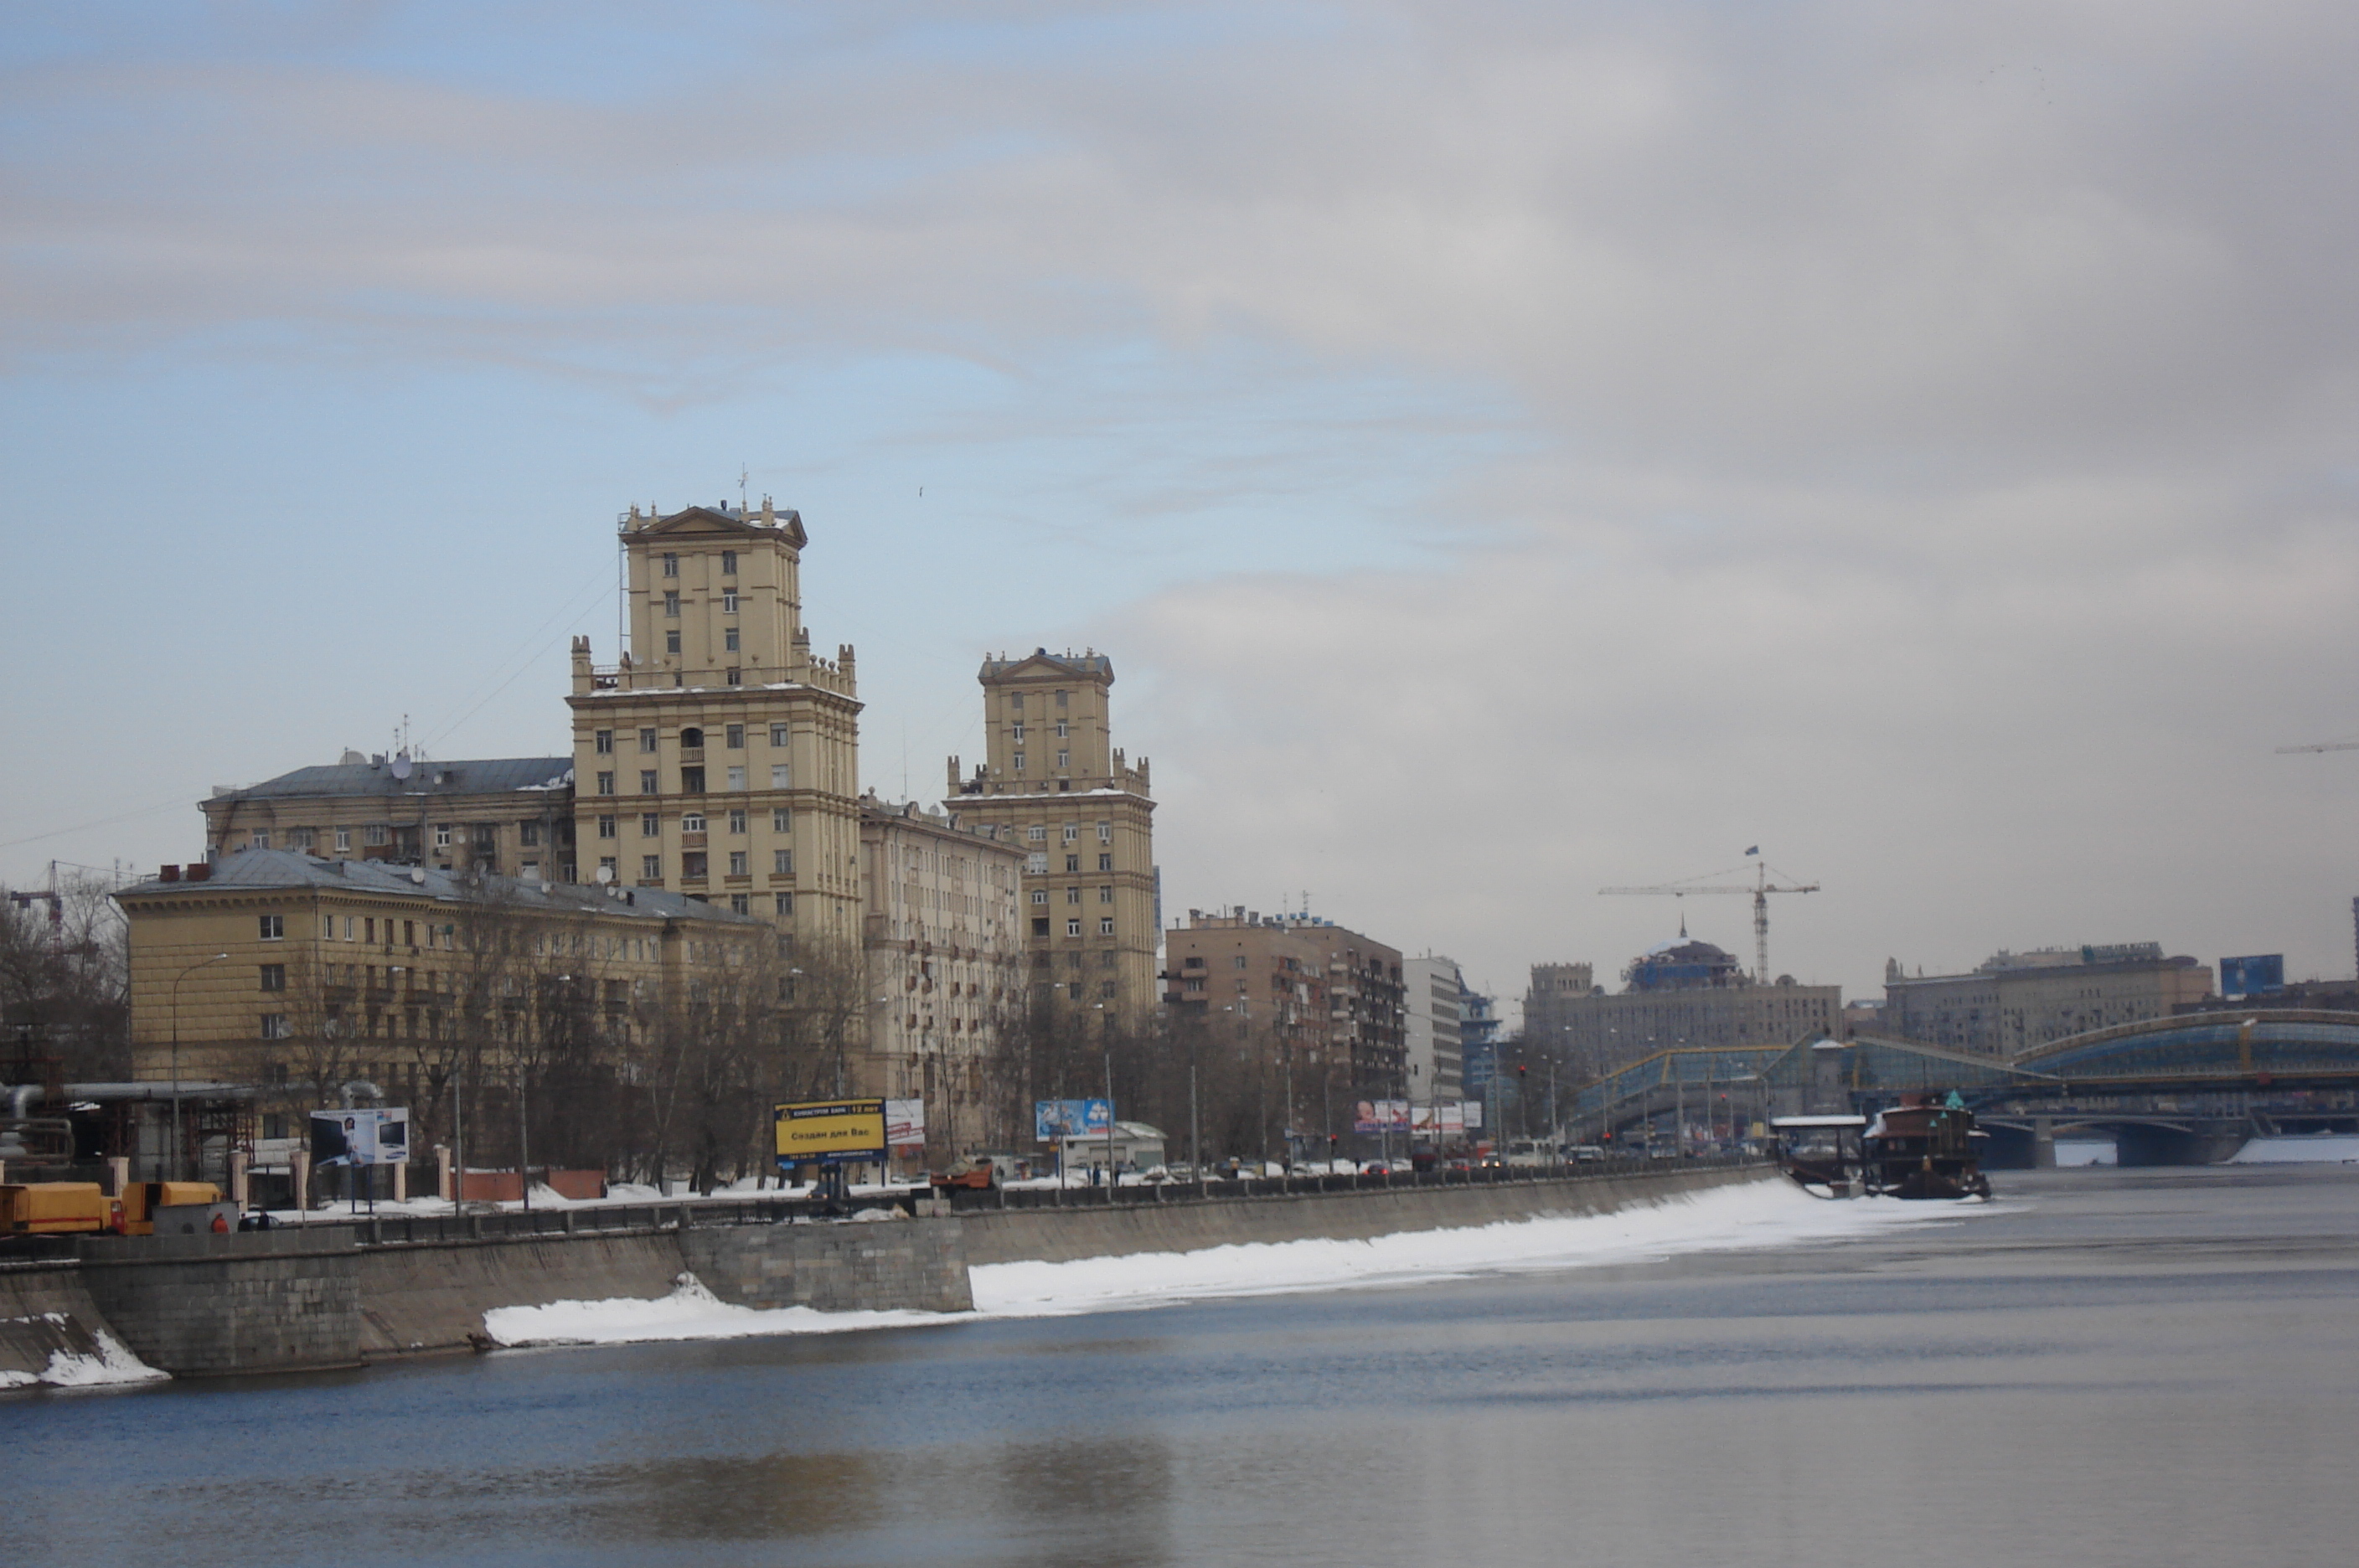
<path id="1" fill-rule="evenodd" d="M 1611 1214 L 1519 1219 L 1458 1231 L 1406 1231 L 1373 1240 L 1288 1240 L 1135 1252 L 1064 1264 L 986 1264 L 972 1271 L 972 1313 L 757 1311 L 715 1299 L 691 1276 L 658 1302 L 557 1302 L 484 1316 L 500 1344 L 632 1344 L 731 1339 L 859 1327 L 911 1327 L 970 1318 L 1040 1318 L 1168 1306 L 1210 1297 L 1349 1290 L 1463 1280 L 1484 1273 L 1592 1269 L 1689 1252 L 1732 1252 L 1847 1240 L 1989 1212 L 1946 1203 L 1824 1203 L 1788 1181 L 1717 1186 Z"/>

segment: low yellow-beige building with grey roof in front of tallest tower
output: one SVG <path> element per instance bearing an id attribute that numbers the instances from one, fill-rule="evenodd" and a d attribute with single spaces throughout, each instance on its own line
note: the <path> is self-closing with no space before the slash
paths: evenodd
<path id="1" fill-rule="evenodd" d="M 670 891 L 288 849 L 167 865 L 116 903 L 130 929 L 134 1078 L 252 1082 L 264 1118 L 314 1108 L 344 1080 L 396 1103 L 436 1094 L 469 995 L 519 1026 L 594 1014 L 606 1037 L 630 1042 L 769 941 L 757 920 Z"/>

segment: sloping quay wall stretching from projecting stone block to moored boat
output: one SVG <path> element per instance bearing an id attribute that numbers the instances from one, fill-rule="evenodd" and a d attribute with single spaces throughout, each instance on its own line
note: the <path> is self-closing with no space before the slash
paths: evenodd
<path id="1" fill-rule="evenodd" d="M 1760 1181 L 1762 1165 L 1630 1172 L 1614 1177 L 1498 1181 L 1484 1186 L 1404 1186 L 1352 1193 L 1269 1198 L 1177 1198 L 1116 1207 L 970 1210 L 967 1264 L 1064 1264 L 1132 1252 L 1196 1252 L 1236 1243 L 1368 1240 L 1397 1231 L 1453 1231 L 1514 1219 L 1609 1214 L 1715 1186 Z M 1184 1188 L 1165 1188 L 1177 1193 Z"/>

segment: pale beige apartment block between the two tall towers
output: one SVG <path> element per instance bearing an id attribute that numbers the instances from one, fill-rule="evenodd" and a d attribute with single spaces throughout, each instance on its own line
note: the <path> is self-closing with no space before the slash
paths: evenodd
<path id="1" fill-rule="evenodd" d="M 1007 1146 L 1005 1021 L 1021 1009 L 1024 854 L 915 802 L 861 802 L 873 1019 L 854 1092 L 922 1099 L 927 1160 Z"/>

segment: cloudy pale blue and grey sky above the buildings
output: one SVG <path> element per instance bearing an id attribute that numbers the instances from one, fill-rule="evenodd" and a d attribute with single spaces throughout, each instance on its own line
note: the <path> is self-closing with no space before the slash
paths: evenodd
<path id="1" fill-rule="evenodd" d="M 0 879 L 569 750 L 616 514 L 797 507 L 863 780 L 1099 648 L 1168 917 L 1514 997 L 2350 976 L 2359 14 L 0 12 Z M 743 476 L 743 481 L 741 481 Z"/>

